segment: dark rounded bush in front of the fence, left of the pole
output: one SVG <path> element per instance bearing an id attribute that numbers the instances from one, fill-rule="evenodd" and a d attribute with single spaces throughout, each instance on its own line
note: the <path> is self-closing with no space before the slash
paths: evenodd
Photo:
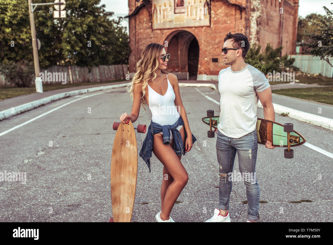
<path id="1" fill-rule="evenodd" d="M 34 63 L 27 61 L 8 61 L 0 65 L 0 72 L 16 87 L 29 87 L 35 77 Z"/>

